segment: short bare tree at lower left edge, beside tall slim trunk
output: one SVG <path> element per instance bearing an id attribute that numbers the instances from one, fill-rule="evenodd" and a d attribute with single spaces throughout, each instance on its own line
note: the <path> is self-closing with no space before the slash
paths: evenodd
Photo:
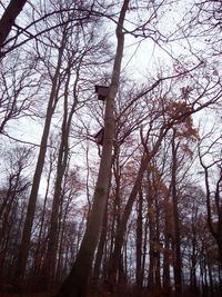
<path id="1" fill-rule="evenodd" d="M 7 151 L 4 158 L 7 158 L 7 182 L 6 186 L 3 185 L 4 190 L 1 190 L 0 199 L 0 249 L 2 255 L 0 276 L 8 278 L 8 283 L 10 283 L 11 264 L 14 264 L 17 254 L 12 247 L 18 248 L 26 198 L 31 185 L 28 179 L 28 170 L 32 160 L 32 149 L 16 147 Z"/>

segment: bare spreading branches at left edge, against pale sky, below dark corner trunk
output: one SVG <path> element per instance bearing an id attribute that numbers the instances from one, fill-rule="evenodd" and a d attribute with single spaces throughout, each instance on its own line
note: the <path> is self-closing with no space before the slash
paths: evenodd
<path id="1" fill-rule="evenodd" d="M 0 63 L 0 135 L 8 136 L 12 121 L 33 116 L 41 81 L 26 55 L 14 52 Z"/>

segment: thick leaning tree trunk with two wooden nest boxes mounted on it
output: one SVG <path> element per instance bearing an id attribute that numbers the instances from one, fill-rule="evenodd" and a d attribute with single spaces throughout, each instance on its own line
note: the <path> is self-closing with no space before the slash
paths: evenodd
<path id="1" fill-rule="evenodd" d="M 93 196 L 93 205 L 89 217 L 89 222 L 85 234 L 77 255 L 75 263 L 64 280 L 57 297 L 84 297 L 87 296 L 88 280 L 92 268 L 94 250 L 98 244 L 101 231 L 103 214 L 107 204 L 107 196 L 109 189 L 111 162 L 112 162 L 112 147 L 114 136 L 114 98 L 119 88 L 121 61 L 123 56 L 124 34 L 122 31 L 125 13 L 128 10 L 129 0 L 123 2 L 118 27 L 117 38 L 118 47 L 112 71 L 111 85 L 107 96 L 105 117 L 104 117 L 104 141 L 102 156 L 100 161 L 100 169 L 98 181 Z"/>

